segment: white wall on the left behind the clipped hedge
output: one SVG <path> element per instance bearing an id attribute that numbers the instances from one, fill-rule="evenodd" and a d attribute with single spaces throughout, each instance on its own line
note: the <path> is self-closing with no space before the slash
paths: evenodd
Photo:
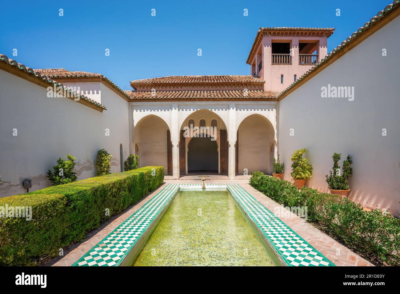
<path id="1" fill-rule="evenodd" d="M 48 98 L 46 88 L 0 70 L 0 197 L 26 193 L 24 179 L 32 180 L 30 191 L 51 185 L 47 170 L 67 153 L 76 156 L 78 179 L 96 175 L 102 148 L 113 155 L 112 172 L 120 171 L 121 143 L 123 157 L 129 155 L 128 102 L 100 82 L 99 88 L 108 109 L 103 112 L 68 98 Z"/>

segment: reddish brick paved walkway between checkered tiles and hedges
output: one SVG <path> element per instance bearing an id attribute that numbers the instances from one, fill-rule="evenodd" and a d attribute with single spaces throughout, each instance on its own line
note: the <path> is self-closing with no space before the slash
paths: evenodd
<path id="1" fill-rule="evenodd" d="M 218 175 L 219 176 L 219 175 Z M 193 176 L 195 179 L 186 179 L 184 183 L 199 183 L 197 175 Z M 295 232 L 302 236 L 307 242 L 309 242 L 314 248 L 324 254 L 329 258 L 336 266 L 373 266 L 370 262 L 366 261 L 361 256 L 352 252 L 342 244 L 336 242 L 328 235 L 324 234 L 320 230 L 316 229 L 311 224 L 304 221 L 295 215 L 288 215 L 287 213 L 282 214 L 282 209 L 275 201 L 269 199 L 264 194 L 255 190 L 253 187 L 248 185 L 248 178 L 239 179 L 240 177 L 248 176 L 237 176 L 236 180 L 218 179 L 218 180 L 208 180 L 208 184 L 226 184 L 226 183 L 237 183 L 241 185 L 248 193 L 250 193 L 254 198 L 262 203 L 266 208 L 275 213 L 282 221 L 284 221 L 288 226 L 290 226 Z M 55 257 L 50 260 L 46 266 L 71 266 L 76 260 L 78 260 L 82 255 L 88 252 L 94 245 L 100 242 L 104 237 L 106 237 L 112 230 L 114 230 L 123 221 L 128 219 L 135 211 L 142 207 L 147 201 L 154 197 L 158 192 L 160 192 L 166 184 L 168 183 L 179 183 L 183 184 L 182 179 L 179 180 L 169 180 L 165 177 L 163 185 L 158 187 L 152 193 L 146 195 L 138 203 L 132 205 L 126 211 L 116 215 L 110 220 L 104 222 L 100 228 L 92 230 L 88 233 L 87 238 L 73 244 L 67 249 L 64 249 L 64 257 Z"/>

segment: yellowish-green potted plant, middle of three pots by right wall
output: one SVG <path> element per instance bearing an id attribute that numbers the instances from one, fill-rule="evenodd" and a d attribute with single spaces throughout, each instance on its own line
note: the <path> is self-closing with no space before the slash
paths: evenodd
<path id="1" fill-rule="evenodd" d="M 304 186 L 307 179 L 312 176 L 312 166 L 308 164 L 308 160 L 303 158 L 304 153 L 306 153 L 306 148 L 296 150 L 292 154 L 292 178 L 294 179 L 294 185 L 297 189 L 301 189 Z"/>

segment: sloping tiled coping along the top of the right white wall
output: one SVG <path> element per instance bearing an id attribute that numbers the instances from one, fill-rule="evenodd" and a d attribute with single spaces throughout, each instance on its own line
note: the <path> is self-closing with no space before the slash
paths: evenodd
<path id="1" fill-rule="evenodd" d="M 316 72 L 318 69 L 321 68 L 322 65 L 326 64 L 328 61 L 331 60 L 338 52 L 341 52 L 343 48 L 346 48 L 349 44 L 351 44 L 354 40 L 356 40 L 359 36 L 364 34 L 364 32 L 370 30 L 370 28 L 374 28 L 374 25 L 382 20 L 385 16 L 388 14 L 392 13 L 394 10 L 397 10 L 400 6 L 400 0 L 394 0 L 392 4 L 389 4 L 385 7 L 384 10 L 379 11 L 376 16 L 372 17 L 368 22 L 364 24 L 361 28 L 359 28 L 356 32 L 351 34 L 350 37 L 348 37 L 346 40 L 344 40 L 339 46 L 337 46 L 334 50 L 328 53 L 327 56 L 325 56 L 324 59 L 322 59 L 320 62 L 318 62 L 315 66 L 310 68 L 305 74 L 303 74 L 301 77 L 299 77 L 294 83 L 292 83 L 290 86 L 288 86 L 286 89 L 284 89 L 278 98 L 280 98 L 282 95 L 284 95 L 287 91 L 292 89 L 296 85 L 302 84 L 304 81 L 304 78 L 307 77 L 308 75 L 312 74 L 313 72 Z"/>

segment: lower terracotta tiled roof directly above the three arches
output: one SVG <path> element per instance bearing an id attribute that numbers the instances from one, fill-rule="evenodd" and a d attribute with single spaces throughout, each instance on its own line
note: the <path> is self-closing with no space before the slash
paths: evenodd
<path id="1" fill-rule="evenodd" d="M 276 99 L 279 91 L 125 91 L 132 100 L 150 99 Z"/>

